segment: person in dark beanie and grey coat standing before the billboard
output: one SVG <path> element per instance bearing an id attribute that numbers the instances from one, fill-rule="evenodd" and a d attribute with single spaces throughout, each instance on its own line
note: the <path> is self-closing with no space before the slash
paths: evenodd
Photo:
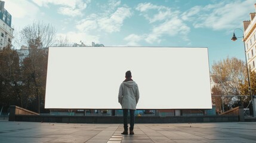
<path id="1" fill-rule="evenodd" d="M 118 102 L 122 105 L 124 113 L 124 132 L 122 132 L 123 135 L 128 135 L 128 110 L 130 114 L 129 134 L 134 135 L 134 112 L 136 110 L 138 98 L 140 98 L 138 85 L 131 79 L 131 77 L 131 71 L 128 70 L 125 73 L 125 80 L 121 83 L 118 94 Z"/>

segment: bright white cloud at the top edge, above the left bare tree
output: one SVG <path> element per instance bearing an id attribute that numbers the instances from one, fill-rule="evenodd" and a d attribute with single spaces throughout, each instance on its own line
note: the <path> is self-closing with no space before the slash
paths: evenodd
<path id="1" fill-rule="evenodd" d="M 58 13 L 75 17 L 75 16 L 81 16 L 83 15 L 82 11 L 87 8 L 86 2 L 91 1 L 82 1 L 82 0 L 33 0 L 35 4 L 37 4 L 39 7 L 49 7 L 49 4 L 53 5 L 60 5 L 61 7 L 58 8 Z"/>

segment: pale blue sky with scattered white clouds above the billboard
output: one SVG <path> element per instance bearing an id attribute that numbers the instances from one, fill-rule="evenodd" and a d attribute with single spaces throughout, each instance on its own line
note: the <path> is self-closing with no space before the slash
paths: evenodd
<path id="1" fill-rule="evenodd" d="M 14 31 L 33 21 L 50 23 L 72 43 L 104 46 L 208 47 L 209 64 L 245 61 L 234 29 L 255 13 L 253 0 L 5 0 Z M 242 36 L 241 30 L 236 36 Z M 143 57 L 143 55 L 141 55 Z M 182 58 L 183 55 L 180 55 Z M 177 59 L 178 60 L 178 59 Z"/>

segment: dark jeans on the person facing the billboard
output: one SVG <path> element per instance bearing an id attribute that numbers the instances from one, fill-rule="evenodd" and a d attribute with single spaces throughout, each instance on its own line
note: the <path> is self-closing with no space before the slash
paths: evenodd
<path id="1" fill-rule="evenodd" d="M 135 110 L 129 109 L 129 116 L 130 116 L 129 130 L 133 130 L 134 128 L 134 120 L 135 120 L 134 112 Z M 128 130 L 128 109 L 123 109 L 123 113 L 124 113 L 124 129 Z"/>

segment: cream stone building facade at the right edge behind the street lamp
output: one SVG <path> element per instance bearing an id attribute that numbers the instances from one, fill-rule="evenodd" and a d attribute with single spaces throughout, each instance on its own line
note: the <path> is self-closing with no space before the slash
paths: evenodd
<path id="1" fill-rule="evenodd" d="M 256 10 L 256 4 L 254 4 Z M 250 13 L 250 20 L 243 21 L 244 42 L 248 68 L 256 72 L 256 13 Z"/>

